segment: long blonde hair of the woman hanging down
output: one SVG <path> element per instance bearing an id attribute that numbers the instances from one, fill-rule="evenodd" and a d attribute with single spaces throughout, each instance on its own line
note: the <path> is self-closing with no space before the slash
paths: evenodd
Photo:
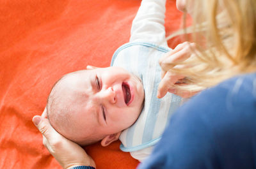
<path id="1" fill-rule="evenodd" d="M 188 77 L 189 85 L 177 87 L 198 91 L 256 70 L 255 0 L 187 0 L 187 6 L 193 6 L 193 24 L 183 31 L 186 40 L 192 33 L 197 50 L 194 57 L 175 63 L 193 66 L 170 69 Z"/>

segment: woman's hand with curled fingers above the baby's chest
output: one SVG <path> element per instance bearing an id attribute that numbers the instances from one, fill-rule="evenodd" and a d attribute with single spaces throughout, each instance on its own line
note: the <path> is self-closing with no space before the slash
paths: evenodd
<path id="1" fill-rule="evenodd" d="M 195 52 L 195 47 L 195 43 L 189 43 L 186 41 L 184 43 L 180 43 L 171 52 L 159 59 L 159 64 L 162 68 L 162 80 L 158 86 L 157 98 L 163 98 L 167 92 L 172 92 L 182 98 L 189 98 L 196 94 L 196 92 L 181 91 L 174 88 L 174 84 L 182 84 L 182 79 L 186 77 L 170 71 L 172 68 L 182 68 L 184 65 L 176 65 L 176 63 L 185 61 L 191 57 L 193 52 Z"/>

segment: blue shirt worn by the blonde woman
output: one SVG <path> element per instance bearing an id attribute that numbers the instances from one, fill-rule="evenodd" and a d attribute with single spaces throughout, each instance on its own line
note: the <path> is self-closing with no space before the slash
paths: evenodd
<path id="1" fill-rule="evenodd" d="M 256 168 L 256 74 L 231 78 L 180 107 L 139 168 Z"/>

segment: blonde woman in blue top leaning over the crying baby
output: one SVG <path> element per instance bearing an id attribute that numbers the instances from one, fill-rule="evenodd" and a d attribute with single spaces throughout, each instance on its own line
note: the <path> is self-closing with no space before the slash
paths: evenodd
<path id="1" fill-rule="evenodd" d="M 139 168 L 255 168 L 256 1 L 177 0 L 193 18 L 195 43 L 178 45 L 159 63 L 166 92 L 189 97 L 170 120 L 154 152 Z M 195 45 L 196 44 L 196 45 Z M 51 128 L 33 122 L 63 168 L 94 166 L 86 152 Z"/>

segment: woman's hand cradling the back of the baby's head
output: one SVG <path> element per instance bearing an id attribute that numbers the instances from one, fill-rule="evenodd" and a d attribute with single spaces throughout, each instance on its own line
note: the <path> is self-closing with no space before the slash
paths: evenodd
<path id="1" fill-rule="evenodd" d="M 74 166 L 93 166 L 95 168 L 95 162 L 84 149 L 55 131 L 47 118 L 36 115 L 33 117 L 33 122 L 43 135 L 44 146 L 63 168 Z"/>

